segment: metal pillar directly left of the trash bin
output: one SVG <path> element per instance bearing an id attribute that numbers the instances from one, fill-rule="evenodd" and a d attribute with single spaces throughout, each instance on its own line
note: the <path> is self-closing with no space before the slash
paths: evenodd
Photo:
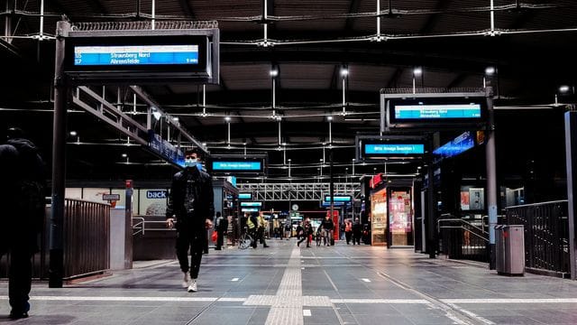
<path id="1" fill-rule="evenodd" d="M 487 145 L 485 159 L 487 163 L 487 205 L 489 206 L 489 269 L 495 269 L 495 226 L 497 226 L 497 167 L 495 158 L 495 117 L 493 111 L 493 88 L 485 88 L 487 97 Z"/>

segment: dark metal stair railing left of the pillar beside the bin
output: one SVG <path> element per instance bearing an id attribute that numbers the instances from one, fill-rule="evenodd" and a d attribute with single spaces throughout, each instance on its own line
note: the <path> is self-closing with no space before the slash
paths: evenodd
<path id="1" fill-rule="evenodd" d="M 437 220 L 439 252 L 454 259 L 489 262 L 489 233 L 462 218 L 443 214 Z"/>

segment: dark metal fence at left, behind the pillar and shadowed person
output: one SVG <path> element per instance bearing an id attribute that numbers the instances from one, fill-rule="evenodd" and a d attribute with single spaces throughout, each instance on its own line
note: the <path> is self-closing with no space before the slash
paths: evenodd
<path id="1" fill-rule="evenodd" d="M 50 205 L 46 209 L 40 252 L 32 258 L 32 278 L 48 279 Z M 0 259 L 0 278 L 8 277 L 9 255 Z M 65 200 L 64 279 L 98 274 L 110 265 L 110 206 L 86 200 Z"/>

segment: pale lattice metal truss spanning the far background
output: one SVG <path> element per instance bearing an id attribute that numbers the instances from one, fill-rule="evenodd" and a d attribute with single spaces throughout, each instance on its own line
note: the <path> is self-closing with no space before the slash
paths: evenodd
<path id="1" fill-rule="evenodd" d="M 334 195 L 351 195 L 353 199 L 360 199 L 361 183 L 335 182 Z M 330 183 L 239 183 L 238 190 L 252 192 L 252 200 L 256 201 L 298 201 L 324 200 L 329 195 Z"/>

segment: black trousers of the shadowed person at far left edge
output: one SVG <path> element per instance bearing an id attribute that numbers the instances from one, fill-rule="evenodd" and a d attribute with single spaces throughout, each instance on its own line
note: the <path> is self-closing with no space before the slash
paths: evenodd
<path id="1" fill-rule="evenodd" d="M 4 254 L 5 252 L 0 252 L 0 257 Z M 16 313 L 29 311 L 28 294 L 32 286 L 32 253 L 28 249 L 10 250 L 8 277 L 8 297 L 12 310 Z"/>

